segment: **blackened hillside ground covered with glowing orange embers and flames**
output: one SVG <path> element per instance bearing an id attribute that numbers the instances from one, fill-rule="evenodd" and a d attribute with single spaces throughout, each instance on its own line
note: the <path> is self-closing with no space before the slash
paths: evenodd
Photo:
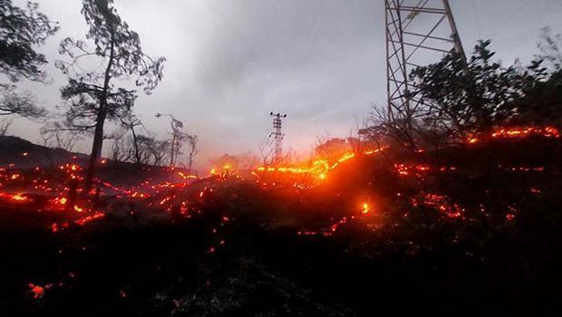
<path id="1" fill-rule="evenodd" d="M 562 143 L 497 133 L 439 156 L 370 150 L 247 178 L 102 176 L 86 198 L 72 159 L 6 164 L 0 312 L 557 315 Z"/>

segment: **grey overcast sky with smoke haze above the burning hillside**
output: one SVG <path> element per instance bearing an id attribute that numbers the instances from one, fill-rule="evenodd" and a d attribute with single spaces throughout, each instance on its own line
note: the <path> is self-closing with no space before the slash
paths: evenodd
<path id="1" fill-rule="evenodd" d="M 24 4 L 24 0 L 15 0 Z M 83 38 L 79 0 L 39 0 L 61 30 L 41 48 L 60 58 L 63 37 Z M 269 111 L 288 114 L 285 149 L 309 149 L 316 136 L 349 136 L 386 93 L 383 0 L 115 0 L 146 53 L 168 59 L 164 79 L 140 95 L 136 113 L 161 138 L 174 113 L 200 137 L 199 162 L 257 151 L 271 130 Z M 465 49 L 480 38 L 504 64 L 538 53 L 540 29 L 562 32 L 560 0 L 451 0 Z M 33 89 L 49 109 L 65 78 Z M 11 134 L 39 140 L 39 126 L 17 120 Z M 82 145 L 82 150 L 91 146 Z M 106 148 L 109 148 L 106 146 Z"/>

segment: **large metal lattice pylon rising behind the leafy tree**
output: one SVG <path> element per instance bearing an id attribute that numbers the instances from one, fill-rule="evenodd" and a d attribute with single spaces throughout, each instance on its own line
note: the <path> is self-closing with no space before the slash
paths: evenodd
<path id="1" fill-rule="evenodd" d="M 411 121 L 423 105 L 412 70 L 453 50 L 466 54 L 448 0 L 385 0 L 385 16 L 388 115 Z"/>

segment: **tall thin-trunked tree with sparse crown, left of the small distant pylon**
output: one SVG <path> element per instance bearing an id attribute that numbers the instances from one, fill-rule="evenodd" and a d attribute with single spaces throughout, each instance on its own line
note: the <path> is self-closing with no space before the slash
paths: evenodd
<path id="1" fill-rule="evenodd" d="M 106 120 L 118 120 L 131 113 L 137 98 L 135 89 L 116 87 L 134 77 L 136 87 L 150 94 L 162 79 L 165 58 L 151 58 L 142 51 L 139 34 L 121 20 L 112 0 L 83 0 L 82 14 L 90 26 L 86 41 L 66 38 L 59 52 L 69 61 L 57 61 L 56 66 L 69 76 L 62 96 L 70 101 L 66 112 L 66 126 L 76 130 L 94 130 L 92 154 L 84 189 L 92 188 L 97 160 L 102 154 L 103 126 Z M 102 71 L 84 70 L 79 61 L 92 58 L 102 62 Z M 125 85 L 123 83 L 123 85 Z"/>

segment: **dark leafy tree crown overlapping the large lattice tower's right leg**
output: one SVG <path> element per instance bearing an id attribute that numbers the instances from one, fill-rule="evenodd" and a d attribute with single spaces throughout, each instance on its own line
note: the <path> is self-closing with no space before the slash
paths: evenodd
<path id="1" fill-rule="evenodd" d="M 422 119 L 431 126 L 450 127 L 462 134 L 467 130 L 488 130 L 506 115 L 505 105 L 518 98 L 513 87 L 515 68 L 502 69 L 491 58 L 489 41 L 480 41 L 465 64 L 458 53 L 412 71 L 419 94 L 427 107 Z"/>

